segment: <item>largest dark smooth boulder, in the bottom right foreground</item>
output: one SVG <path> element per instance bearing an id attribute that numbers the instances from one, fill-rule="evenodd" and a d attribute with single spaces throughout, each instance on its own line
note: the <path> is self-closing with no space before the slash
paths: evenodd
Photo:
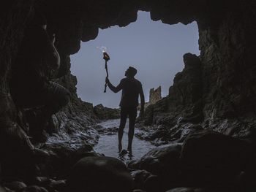
<path id="1" fill-rule="evenodd" d="M 235 185 L 244 171 L 255 172 L 251 143 L 214 131 L 196 131 L 184 141 L 181 160 L 183 178 L 188 184 Z"/>

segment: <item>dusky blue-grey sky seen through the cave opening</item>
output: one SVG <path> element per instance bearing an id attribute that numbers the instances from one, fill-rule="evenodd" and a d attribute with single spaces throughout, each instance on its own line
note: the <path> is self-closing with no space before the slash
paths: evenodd
<path id="1" fill-rule="evenodd" d="M 78 53 L 71 55 L 71 72 L 78 78 L 78 96 L 92 104 L 117 108 L 121 91 L 113 93 L 105 85 L 105 61 L 102 50 L 105 46 L 110 55 L 109 79 L 118 85 L 129 66 L 138 70 L 135 78 L 143 85 L 145 99 L 151 88 L 162 87 L 162 97 L 167 96 L 177 72 L 184 69 L 183 55 L 199 55 L 198 28 L 193 22 L 187 26 L 164 24 L 153 21 L 149 12 L 138 12 L 138 20 L 126 27 L 113 26 L 99 29 L 96 39 L 81 42 Z"/>

